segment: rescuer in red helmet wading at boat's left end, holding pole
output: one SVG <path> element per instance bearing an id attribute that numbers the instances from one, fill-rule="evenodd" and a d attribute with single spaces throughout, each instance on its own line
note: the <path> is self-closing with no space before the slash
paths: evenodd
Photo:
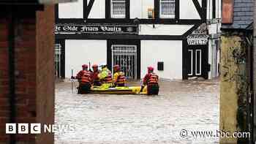
<path id="1" fill-rule="evenodd" d="M 78 79 L 78 94 L 87 94 L 91 88 L 91 72 L 88 70 L 88 66 L 83 64 L 82 70 L 78 72 L 76 77 L 72 77 L 74 79 Z"/>

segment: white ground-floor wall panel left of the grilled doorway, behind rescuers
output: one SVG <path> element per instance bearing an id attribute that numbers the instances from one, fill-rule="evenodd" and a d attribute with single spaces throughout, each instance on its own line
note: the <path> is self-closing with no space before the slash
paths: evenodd
<path id="1" fill-rule="evenodd" d="M 71 77 L 71 69 L 76 75 L 83 64 L 107 63 L 107 40 L 65 41 L 65 77 Z"/>

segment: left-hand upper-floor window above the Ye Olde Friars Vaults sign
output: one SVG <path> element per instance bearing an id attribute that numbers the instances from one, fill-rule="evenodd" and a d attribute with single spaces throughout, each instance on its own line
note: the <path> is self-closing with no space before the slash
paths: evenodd
<path id="1" fill-rule="evenodd" d="M 111 18 L 125 18 L 125 0 L 111 0 Z"/>

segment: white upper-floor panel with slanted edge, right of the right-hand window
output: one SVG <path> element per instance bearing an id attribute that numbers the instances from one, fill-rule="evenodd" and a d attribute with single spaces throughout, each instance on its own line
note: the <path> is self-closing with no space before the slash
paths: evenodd
<path id="1" fill-rule="evenodd" d="M 180 18 L 197 20 L 201 19 L 192 0 L 180 1 Z"/>

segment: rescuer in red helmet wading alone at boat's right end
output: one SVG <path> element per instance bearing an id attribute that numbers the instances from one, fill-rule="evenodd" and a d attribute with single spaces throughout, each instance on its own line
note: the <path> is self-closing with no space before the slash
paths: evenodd
<path id="1" fill-rule="evenodd" d="M 159 92 L 158 75 L 154 73 L 153 67 L 148 67 L 148 73 L 143 78 L 143 86 L 140 88 L 140 92 L 147 86 L 148 95 L 157 95 Z"/>

